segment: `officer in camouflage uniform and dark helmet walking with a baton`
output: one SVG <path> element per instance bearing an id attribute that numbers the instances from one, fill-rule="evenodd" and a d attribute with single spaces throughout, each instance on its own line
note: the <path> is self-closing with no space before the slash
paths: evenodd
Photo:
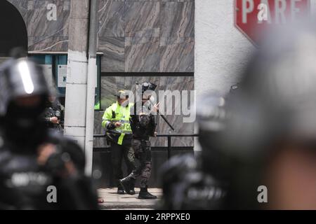
<path id="1" fill-rule="evenodd" d="M 150 105 L 150 92 L 154 91 L 157 85 L 152 83 L 143 83 L 142 89 L 142 103 L 138 108 L 137 103 L 131 108 L 131 130 L 133 131 L 132 147 L 136 158 L 139 160 L 139 165 L 136 169 L 124 179 L 120 180 L 121 186 L 126 193 L 129 193 L 131 187 L 140 176 L 140 193 L 139 199 L 156 199 L 157 196 L 150 194 L 147 191 L 148 180 L 150 179 L 152 169 L 152 157 L 150 149 L 150 137 L 155 137 L 156 126 L 154 115 L 157 112 L 158 104 Z M 146 107 L 150 110 L 144 110 Z"/>

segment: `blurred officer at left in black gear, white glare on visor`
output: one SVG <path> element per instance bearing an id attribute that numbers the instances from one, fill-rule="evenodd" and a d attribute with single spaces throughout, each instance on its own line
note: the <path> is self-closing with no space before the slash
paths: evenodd
<path id="1" fill-rule="evenodd" d="M 81 148 L 45 125 L 41 67 L 19 58 L 0 71 L 0 209 L 98 209 Z"/>

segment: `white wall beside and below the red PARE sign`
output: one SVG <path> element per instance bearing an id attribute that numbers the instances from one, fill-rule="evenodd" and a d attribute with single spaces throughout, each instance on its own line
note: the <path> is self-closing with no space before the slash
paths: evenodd
<path id="1" fill-rule="evenodd" d="M 316 0 L 311 0 L 316 15 Z M 195 90 L 226 94 L 254 45 L 235 27 L 234 0 L 195 0 Z M 197 132 L 197 128 L 195 130 Z M 195 141 L 195 150 L 199 150 Z"/>

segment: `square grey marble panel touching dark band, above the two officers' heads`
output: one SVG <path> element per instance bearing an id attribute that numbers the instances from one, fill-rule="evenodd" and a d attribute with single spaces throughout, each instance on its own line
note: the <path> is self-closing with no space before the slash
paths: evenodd
<path id="1" fill-rule="evenodd" d="M 140 40 L 126 38 L 125 71 L 159 71 L 159 59 L 159 38 L 140 38 Z"/>

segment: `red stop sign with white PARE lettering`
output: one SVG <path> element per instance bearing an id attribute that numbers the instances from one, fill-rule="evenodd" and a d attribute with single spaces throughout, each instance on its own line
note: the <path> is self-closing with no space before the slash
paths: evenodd
<path id="1" fill-rule="evenodd" d="M 273 25 L 284 25 L 309 15 L 310 0 L 235 0 L 235 26 L 258 43 Z"/>

